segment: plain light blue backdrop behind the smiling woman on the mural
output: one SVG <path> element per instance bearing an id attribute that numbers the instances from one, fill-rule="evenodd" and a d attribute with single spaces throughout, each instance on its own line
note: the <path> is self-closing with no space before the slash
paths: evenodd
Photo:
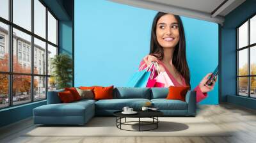
<path id="1" fill-rule="evenodd" d="M 75 1 L 75 86 L 124 86 L 149 52 L 157 11 L 110 1 Z M 218 64 L 218 24 L 181 17 L 194 88 Z M 218 103 L 218 83 L 202 104 Z"/>

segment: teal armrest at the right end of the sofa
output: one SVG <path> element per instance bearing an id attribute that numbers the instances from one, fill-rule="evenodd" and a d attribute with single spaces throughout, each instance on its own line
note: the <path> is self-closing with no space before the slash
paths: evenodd
<path id="1" fill-rule="evenodd" d="M 188 115 L 196 115 L 196 91 L 188 91 L 186 94 L 186 103 L 188 103 Z"/>

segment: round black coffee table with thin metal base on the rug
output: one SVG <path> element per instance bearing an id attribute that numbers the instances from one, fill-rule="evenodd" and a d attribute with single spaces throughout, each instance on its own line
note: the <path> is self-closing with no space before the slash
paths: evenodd
<path id="1" fill-rule="evenodd" d="M 138 126 L 139 130 L 127 130 L 127 131 L 150 131 L 158 128 L 159 123 L 159 116 L 163 116 L 163 112 L 159 110 L 138 110 L 137 114 L 122 114 L 122 110 L 114 112 L 114 116 L 116 116 L 116 127 L 120 130 L 126 130 L 122 128 L 122 125 L 131 125 L 131 126 Z M 127 117 L 132 118 L 138 118 L 138 121 L 126 121 Z M 141 121 L 141 118 L 151 118 L 152 121 Z M 124 122 L 122 122 L 122 119 L 125 119 Z M 138 123 L 138 124 L 131 124 L 131 123 Z M 154 125 L 153 128 L 150 128 L 148 130 L 141 130 L 141 126 L 148 126 L 148 125 Z"/>

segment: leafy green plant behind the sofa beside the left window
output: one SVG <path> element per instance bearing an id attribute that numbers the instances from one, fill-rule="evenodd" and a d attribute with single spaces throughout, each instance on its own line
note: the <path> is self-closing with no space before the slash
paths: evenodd
<path id="1" fill-rule="evenodd" d="M 59 54 L 51 59 L 51 82 L 56 82 L 57 89 L 72 86 L 72 59 L 67 54 Z M 51 86 L 51 85 L 50 85 Z M 55 86 L 55 85 L 54 85 Z"/>

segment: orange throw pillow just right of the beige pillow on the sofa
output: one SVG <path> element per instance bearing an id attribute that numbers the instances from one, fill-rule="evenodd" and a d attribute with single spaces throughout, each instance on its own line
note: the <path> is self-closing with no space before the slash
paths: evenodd
<path id="1" fill-rule="evenodd" d="M 101 87 L 95 86 L 94 91 L 94 99 L 95 100 L 103 100 L 103 99 L 113 99 L 113 88 L 114 86 L 109 87 Z"/>

